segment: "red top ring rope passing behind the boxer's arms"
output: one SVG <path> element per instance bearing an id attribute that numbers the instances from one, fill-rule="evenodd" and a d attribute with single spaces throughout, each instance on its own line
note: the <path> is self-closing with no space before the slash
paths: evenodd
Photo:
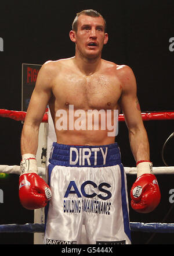
<path id="1" fill-rule="evenodd" d="M 0 109 L 0 117 L 8 117 L 16 121 L 24 121 L 26 117 L 26 112 L 15 111 L 15 110 L 5 110 Z M 174 120 L 174 112 L 152 112 L 152 113 L 142 113 L 143 121 L 150 120 Z M 125 121 L 124 115 L 120 114 L 118 121 Z M 48 122 L 48 114 L 44 114 L 42 122 Z"/>

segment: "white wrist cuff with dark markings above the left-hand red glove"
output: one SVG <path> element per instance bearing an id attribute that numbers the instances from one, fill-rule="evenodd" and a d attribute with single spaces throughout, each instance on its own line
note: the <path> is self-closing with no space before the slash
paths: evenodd
<path id="1" fill-rule="evenodd" d="M 37 160 L 33 154 L 22 155 L 20 162 L 21 174 L 24 173 L 36 173 L 38 174 Z"/>

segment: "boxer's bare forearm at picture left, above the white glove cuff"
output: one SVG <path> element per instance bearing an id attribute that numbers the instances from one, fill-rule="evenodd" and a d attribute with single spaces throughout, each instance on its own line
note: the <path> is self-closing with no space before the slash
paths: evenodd
<path id="1" fill-rule="evenodd" d="M 21 155 L 27 153 L 36 155 L 38 149 L 38 132 L 38 126 L 24 124 L 21 133 Z"/>

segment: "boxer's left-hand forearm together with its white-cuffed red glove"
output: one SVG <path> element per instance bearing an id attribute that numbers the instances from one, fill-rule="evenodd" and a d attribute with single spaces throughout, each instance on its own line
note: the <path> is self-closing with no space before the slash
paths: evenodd
<path id="1" fill-rule="evenodd" d="M 46 206 L 51 199 L 50 187 L 38 174 L 35 156 L 38 145 L 38 128 L 24 125 L 21 135 L 19 198 L 21 205 L 28 210 L 35 210 Z"/>

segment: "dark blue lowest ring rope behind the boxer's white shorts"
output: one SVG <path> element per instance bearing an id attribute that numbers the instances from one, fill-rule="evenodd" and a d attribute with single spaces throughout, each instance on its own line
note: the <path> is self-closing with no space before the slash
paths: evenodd
<path id="1" fill-rule="evenodd" d="M 131 232 L 174 233 L 174 223 L 130 222 Z M 0 233 L 44 233 L 45 225 L 38 223 L 0 225 Z"/>

